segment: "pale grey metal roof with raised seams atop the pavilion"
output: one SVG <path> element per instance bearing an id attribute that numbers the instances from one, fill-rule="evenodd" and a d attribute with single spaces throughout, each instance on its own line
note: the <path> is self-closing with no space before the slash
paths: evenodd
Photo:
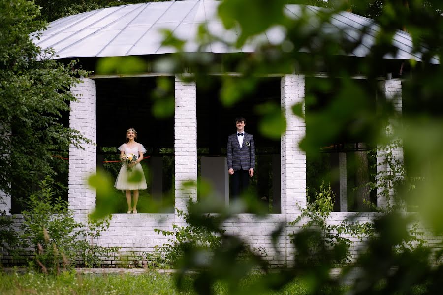
<path id="1" fill-rule="evenodd" d="M 226 30 L 217 15 L 221 2 L 217 0 L 186 0 L 150 2 L 102 8 L 67 16 L 51 22 L 40 39 L 34 39 L 41 48 L 52 47 L 57 58 L 110 57 L 131 55 L 153 55 L 176 52 L 170 46 L 162 45 L 161 29 L 169 29 L 174 35 L 186 40 L 187 52 L 206 51 L 213 53 L 253 52 L 263 42 L 278 44 L 284 39 L 285 32 L 279 27 L 269 29 L 265 34 L 250 40 L 242 48 L 226 46 L 214 41 L 206 48 L 198 48 L 196 34 L 201 23 L 222 40 L 236 40 L 235 29 Z M 285 5 L 289 17 L 298 18 L 302 9 L 314 14 L 321 9 L 314 6 Z M 365 57 L 380 29 L 374 20 L 349 12 L 335 14 L 330 23 L 323 27 L 324 32 L 334 33 L 342 30 L 349 39 L 356 39 L 363 28 L 369 28 L 362 44 L 350 56 Z M 412 38 L 403 31 L 397 31 L 393 44 L 399 49 L 395 56 L 386 59 L 414 59 L 421 61 L 421 55 L 413 52 Z M 432 63 L 439 63 L 433 59 Z"/>

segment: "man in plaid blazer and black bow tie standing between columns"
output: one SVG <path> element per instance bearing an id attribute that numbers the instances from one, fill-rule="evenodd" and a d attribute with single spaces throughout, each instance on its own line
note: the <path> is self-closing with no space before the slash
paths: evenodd
<path id="1" fill-rule="evenodd" d="M 255 145 L 252 134 L 245 132 L 246 119 L 235 118 L 237 132 L 228 137 L 227 165 L 231 177 L 232 197 L 238 198 L 247 191 L 249 177 L 254 174 Z"/>

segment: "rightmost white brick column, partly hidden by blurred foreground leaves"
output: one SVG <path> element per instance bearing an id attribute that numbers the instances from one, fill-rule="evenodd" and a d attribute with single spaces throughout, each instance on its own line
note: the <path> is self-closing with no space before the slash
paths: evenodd
<path id="1" fill-rule="evenodd" d="M 402 113 L 402 83 L 400 80 L 385 80 L 380 82 L 380 89 L 384 92 L 386 100 L 392 101 L 394 106 L 394 111 L 396 112 L 395 116 L 401 116 Z M 393 118 L 395 119 L 395 118 Z M 389 125 L 387 126 L 387 132 L 391 132 L 393 121 L 390 120 Z M 386 173 L 390 173 L 390 168 L 387 164 L 383 164 L 383 161 L 386 159 L 386 153 L 392 152 L 392 157 L 394 161 L 398 161 L 400 164 L 403 164 L 403 148 L 394 148 L 388 149 L 386 151 L 386 147 L 381 148 L 380 145 L 377 146 L 377 175 Z M 400 176 L 399 176 L 400 177 Z M 379 181 L 380 183 L 380 181 Z M 388 184 L 385 184 L 388 185 Z M 389 189 L 389 195 L 383 193 L 383 188 L 377 189 L 377 206 L 387 208 L 389 205 L 393 205 L 393 197 L 394 191 L 393 189 Z"/>

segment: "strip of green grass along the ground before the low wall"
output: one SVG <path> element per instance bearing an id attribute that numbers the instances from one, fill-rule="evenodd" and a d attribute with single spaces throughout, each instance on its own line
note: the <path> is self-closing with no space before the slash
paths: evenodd
<path id="1" fill-rule="evenodd" d="M 243 287 L 248 287 L 259 279 L 253 275 L 244 281 Z M 196 294 L 192 290 L 192 280 L 185 281 L 184 289 L 175 287 L 174 278 L 167 274 L 146 273 L 143 275 L 113 274 L 113 275 L 80 275 L 65 272 L 60 276 L 48 276 L 39 273 L 6 274 L 0 272 L 0 294 L 122 294 L 122 295 L 188 295 Z M 229 294 L 226 285 L 218 283 L 214 286 L 215 294 Z M 341 294 L 342 290 L 324 290 L 324 294 Z M 240 294 L 246 294 L 240 292 Z M 256 294 L 256 293 L 254 293 Z M 306 286 L 295 280 L 279 292 L 264 292 L 262 294 L 309 294 Z"/>

